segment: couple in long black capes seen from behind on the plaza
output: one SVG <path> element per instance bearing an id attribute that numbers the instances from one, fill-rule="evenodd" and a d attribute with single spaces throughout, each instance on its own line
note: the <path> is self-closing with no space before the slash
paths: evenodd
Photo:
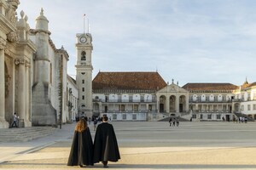
<path id="1" fill-rule="evenodd" d="M 119 159 L 117 139 L 112 124 L 108 123 L 107 115 L 102 116 L 102 123 L 96 127 L 94 144 L 87 120 L 81 118 L 77 122 L 67 166 L 93 166 L 94 163 L 102 161 L 103 167 L 108 167 L 108 161 Z"/>

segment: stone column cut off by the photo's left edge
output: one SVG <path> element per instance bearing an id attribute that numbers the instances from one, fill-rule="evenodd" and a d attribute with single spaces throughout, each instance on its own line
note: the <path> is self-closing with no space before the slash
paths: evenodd
<path id="1" fill-rule="evenodd" d="M 5 41 L 0 37 L 0 128 L 9 127 L 5 120 L 4 46 Z"/>

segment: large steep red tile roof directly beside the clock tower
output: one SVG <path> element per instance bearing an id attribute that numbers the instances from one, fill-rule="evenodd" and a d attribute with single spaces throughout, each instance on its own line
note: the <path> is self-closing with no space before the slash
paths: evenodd
<path id="1" fill-rule="evenodd" d="M 166 85 L 158 72 L 99 72 L 92 81 L 93 90 L 159 90 Z"/>

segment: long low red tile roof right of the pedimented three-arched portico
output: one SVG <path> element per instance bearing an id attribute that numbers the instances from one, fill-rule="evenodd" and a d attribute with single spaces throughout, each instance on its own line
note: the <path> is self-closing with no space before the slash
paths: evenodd
<path id="1" fill-rule="evenodd" d="M 231 83 L 187 83 L 183 86 L 189 91 L 231 91 L 236 90 L 238 87 Z"/>

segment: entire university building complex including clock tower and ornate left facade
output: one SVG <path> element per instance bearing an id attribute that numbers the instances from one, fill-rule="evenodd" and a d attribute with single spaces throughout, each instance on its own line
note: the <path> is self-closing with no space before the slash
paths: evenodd
<path id="1" fill-rule="evenodd" d="M 75 116 L 113 121 L 158 121 L 180 116 L 193 121 L 256 120 L 256 82 L 166 82 L 157 71 L 98 72 L 92 79 L 92 36 L 76 34 L 76 79 L 67 75 L 69 55 L 50 38 L 44 10 L 36 27 L 16 15 L 19 0 L 0 0 L 0 128 L 14 113 L 20 127 L 57 126 Z"/>

